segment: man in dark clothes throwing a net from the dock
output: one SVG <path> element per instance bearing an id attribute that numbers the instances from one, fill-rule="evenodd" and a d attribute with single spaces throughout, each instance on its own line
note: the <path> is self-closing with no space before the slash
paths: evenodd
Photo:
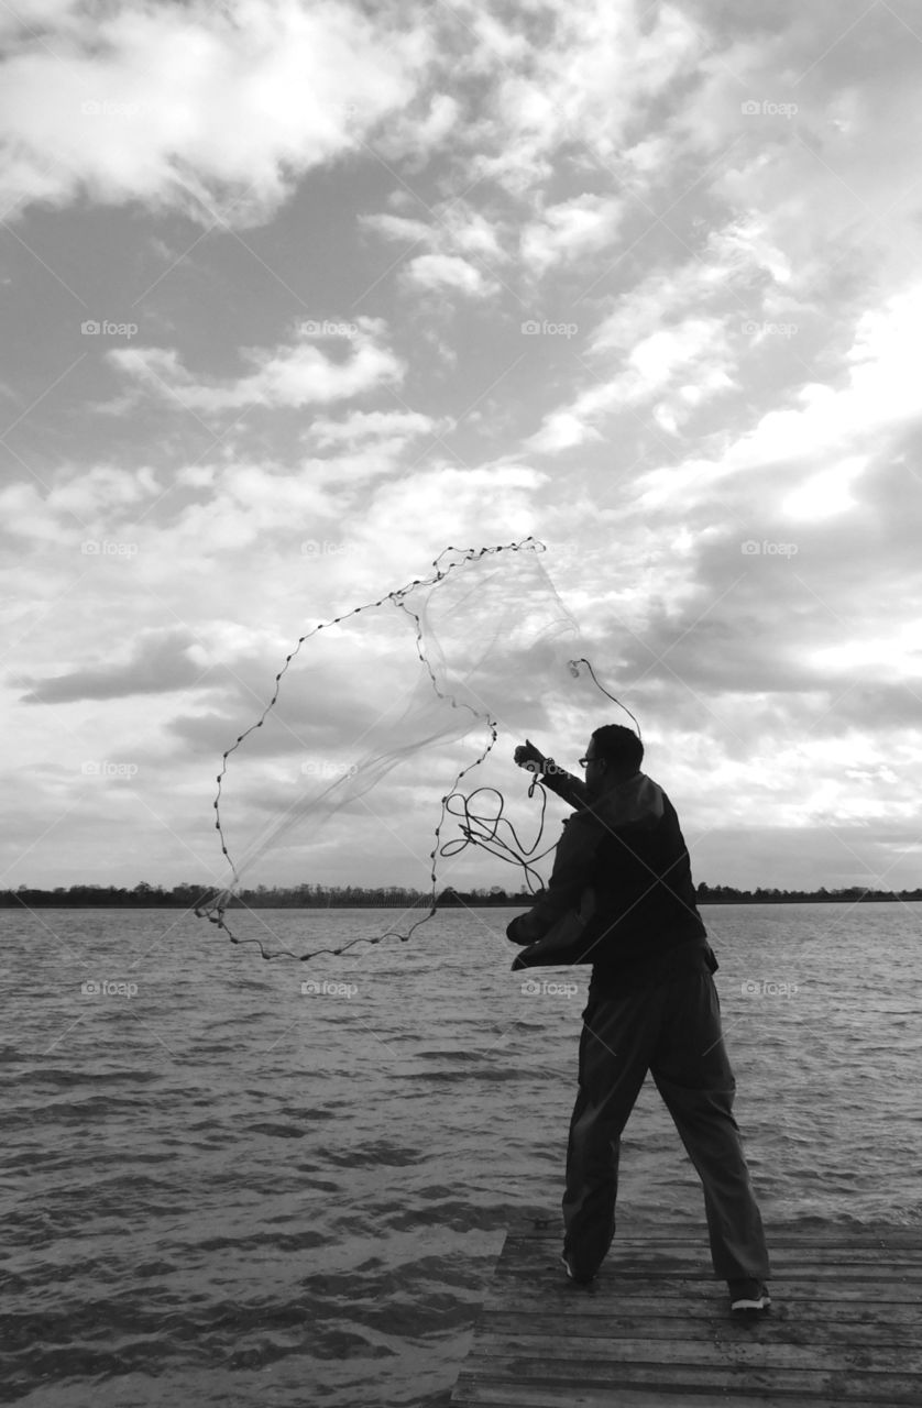
<path id="1" fill-rule="evenodd" d="M 593 964 L 567 1145 L 567 1276 L 591 1281 L 608 1253 L 621 1133 L 650 1070 L 704 1186 L 714 1273 L 728 1283 L 733 1311 L 764 1311 L 769 1252 L 732 1115 L 736 1081 L 712 979 L 718 963 L 678 817 L 640 772 L 640 739 L 619 724 L 593 734 L 580 759 L 586 781 L 529 741 L 514 759 L 576 812 L 548 890 L 507 929 L 529 945 L 512 966 Z"/>

